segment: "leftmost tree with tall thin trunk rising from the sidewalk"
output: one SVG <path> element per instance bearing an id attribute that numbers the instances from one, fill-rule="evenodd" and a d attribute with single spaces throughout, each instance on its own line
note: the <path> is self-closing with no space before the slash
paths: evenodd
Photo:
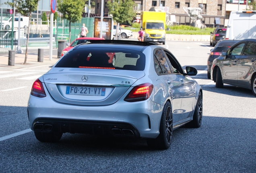
<path id="1" fill-rule="evenodd" d="M 15 7 L 18 13 L 20 13 L 23 16 L 29 17 L 29 27 L 28 27 L 28 33 L 27 33 L 27 43 L 26 43 L 26 53 L 25 53 L 25 60 L 24 64 L 27 63 L 27 50 L 29 45 L 29 29 L 30 29 L 30 21 L 32 12 L 37 10 L 39 0 L 14 0 L 14 2 L 7 2 L 10 6 Z"/>

